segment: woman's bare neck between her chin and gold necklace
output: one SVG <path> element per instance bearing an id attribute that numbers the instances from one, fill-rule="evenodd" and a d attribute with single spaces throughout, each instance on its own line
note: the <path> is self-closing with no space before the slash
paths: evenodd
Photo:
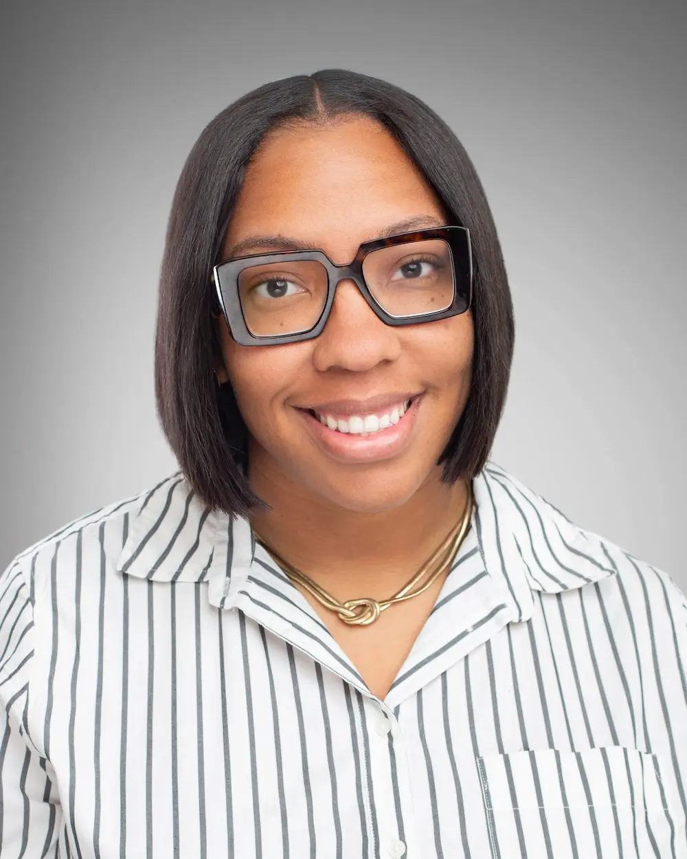
<path id="1" fill-rule="evenodd" d="M 405 503 L 369 513 L 344 509 L 282 473 L 249 467 L 252 488 L 271 509 L 252 526 L 289 564 L 340 600 L 384 599 L 403 587 L 465 510 L 465 481 L 437 469 Z"/>

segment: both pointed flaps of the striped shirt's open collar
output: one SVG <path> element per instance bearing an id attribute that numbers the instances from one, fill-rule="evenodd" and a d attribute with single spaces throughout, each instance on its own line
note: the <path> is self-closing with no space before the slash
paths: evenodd
<path id="1" fill-rule="evenodd" d="M 514 620 L 532 616 L 533 592 L 557 594 L 614 574 L 597 534 L 495 463 L 487 463 L 472 489 L 483 564 L 509 594 Z M 256 558 L 249 522 L 208 509 L 181 472 L 137 498 L 116 569 L 154 582 L 207 581 L 211 605 L 222 608 L 232 607 L 252 581 L 284 585 Z"/>

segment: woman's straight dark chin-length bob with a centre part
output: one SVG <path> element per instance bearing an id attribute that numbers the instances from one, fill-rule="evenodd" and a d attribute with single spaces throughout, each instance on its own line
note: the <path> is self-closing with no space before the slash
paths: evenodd
<path id="1" fill-rule="evenodd" d="M 192 490 L 230 516 L 264 508 L 248 483 L 247 430 L 221 365 L 211 282 L 246 165 L 264 135 L 283 125 L 377 120 L 423 173 L 453 223 L 470 230 L 475 346 L 471 388 L 438 465 L 447 483 L 471 479 L 489 457 L 505 405 L 514 316 L 501 246 L 477 172 L 458 138 L 416 96 L 341 69 L 296 75 L 243 95 L 204 128 L 173 197 L 161 264 L 155 334 L 155 399 L 162 430 Z M 246 347 L 250 348 L 250 347 Z"/>

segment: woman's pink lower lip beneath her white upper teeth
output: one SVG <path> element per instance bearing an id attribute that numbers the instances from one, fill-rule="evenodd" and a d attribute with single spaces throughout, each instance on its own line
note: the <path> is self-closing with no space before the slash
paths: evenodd
<path id="1" fill-rule="evenodd" d="M 422 394 L 417 396 L 398 423 L 392 423 L 386 429 L 377 430 L 368 436 L 331 430 L 310 411 L 298 411 L 306 422 L 307 430 L 327 454 L 342 462 L 369 462 L 389 459 L 410 444 L 422 400 Z"/>

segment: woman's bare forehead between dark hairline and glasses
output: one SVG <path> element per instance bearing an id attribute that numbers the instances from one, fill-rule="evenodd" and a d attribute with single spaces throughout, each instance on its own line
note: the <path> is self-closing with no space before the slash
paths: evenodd
<path id="1" fill-rule="evenodd" d="M 246 169 L 223 255 L 238 255 L 236 247 L 252 253 L 252 236 L 290 237 L 294 247 L 330 242 L 333 253 L 355 253 L 393 224 L 421 216 L 426 222 L 409 228 L 447 222 L 441 200 L 381 125 L 352 119 L 280 129 Z"/>

